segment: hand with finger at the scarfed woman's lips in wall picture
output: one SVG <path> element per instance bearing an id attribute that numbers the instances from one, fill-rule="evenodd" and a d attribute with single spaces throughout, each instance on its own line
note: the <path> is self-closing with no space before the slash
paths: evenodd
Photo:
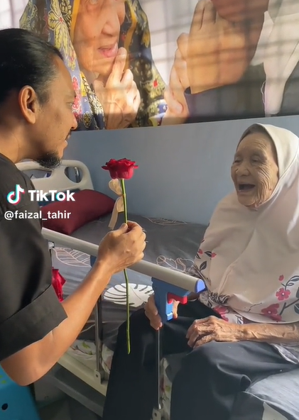
<path id="1" fill-rule="evenodd" d="M 128 127 L 135 120 L 141 103 L 133 73 L 129 69 L 124 71 L 126 56 L 125 48 L 119 48 L 107 83 L 94 81 L 94 91 L 104 109 L 108 130 Z"/>

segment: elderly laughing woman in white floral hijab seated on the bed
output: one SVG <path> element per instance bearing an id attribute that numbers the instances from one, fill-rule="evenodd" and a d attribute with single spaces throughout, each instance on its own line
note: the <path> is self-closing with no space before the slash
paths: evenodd
<path id="1" fill-rule="evenodd" d="M 255 124 L 232 164 L 235 191 L 220 201 L 192 275 L 207 291 L 161 330 L 163 355 L 185 353 L 171 420 L 228 420 L 252 382 L 299 365 L 299 139 Z M 119 329 L 104 420 L 150 420 L 157 399 L 153 296 Z M 299 372 L 299 370 L 298 370 Z"/>

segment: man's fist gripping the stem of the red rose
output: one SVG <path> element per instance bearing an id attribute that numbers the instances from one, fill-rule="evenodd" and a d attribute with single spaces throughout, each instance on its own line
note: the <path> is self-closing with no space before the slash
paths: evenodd
<path id="1" fill-rule="evenodd" d="M 130 221 L 104 236 L 99 244 L 97 261 L 107 263 L 113 273 L 120 272 L 142 260 L 145 248 L 146 234 L 141 226 Z"/>

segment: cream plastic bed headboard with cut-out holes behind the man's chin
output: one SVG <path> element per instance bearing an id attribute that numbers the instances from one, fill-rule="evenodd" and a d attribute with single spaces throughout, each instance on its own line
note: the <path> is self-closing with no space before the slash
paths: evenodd
<path id="1" fill-rule="evenodd" d="M 46 177 L 34 177 L 31 179 L 34 187 L 43 190 L 43 192 L 49 192 L 53 189 L 56 189 L 58 192 L 94 189 L 88 167 L 80 160 L 62 160 L 62 164 L 53 170 L 45 169 L 33 161 L 19 162 L 16 164 L 16 167 L 25 173 L 29 171 L 43 171 L 41 173 L 45 174 Z M 70 173 L 70 169 L 74 170 L 76 181 L 72 181 L 67 176 Z"/>

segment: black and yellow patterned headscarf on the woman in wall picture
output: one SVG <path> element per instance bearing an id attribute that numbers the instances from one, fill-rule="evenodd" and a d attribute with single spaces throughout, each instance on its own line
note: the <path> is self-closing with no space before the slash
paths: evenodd
<path id="1" fill-rule="evenodd" d="M 42 36 L 60 50 L 77 94 L 73 106 L 77 129 L 102 130 L 106 128 L 102 104 L 80 70 L 72 45 L 80 1 L 29 0 L 20 19 L 20 28 Z M 141 105 L 131 126 L 157 126 L 166 111 L 163 99 L 165 84 L 153 63 L 148 20 L 139 1 L 126 0 L 125 6 L 126 17 L 119 34 L 119 48 L 124 47 L 128 52 L 126 67 L 133 72 L 141 96 Z"/>

